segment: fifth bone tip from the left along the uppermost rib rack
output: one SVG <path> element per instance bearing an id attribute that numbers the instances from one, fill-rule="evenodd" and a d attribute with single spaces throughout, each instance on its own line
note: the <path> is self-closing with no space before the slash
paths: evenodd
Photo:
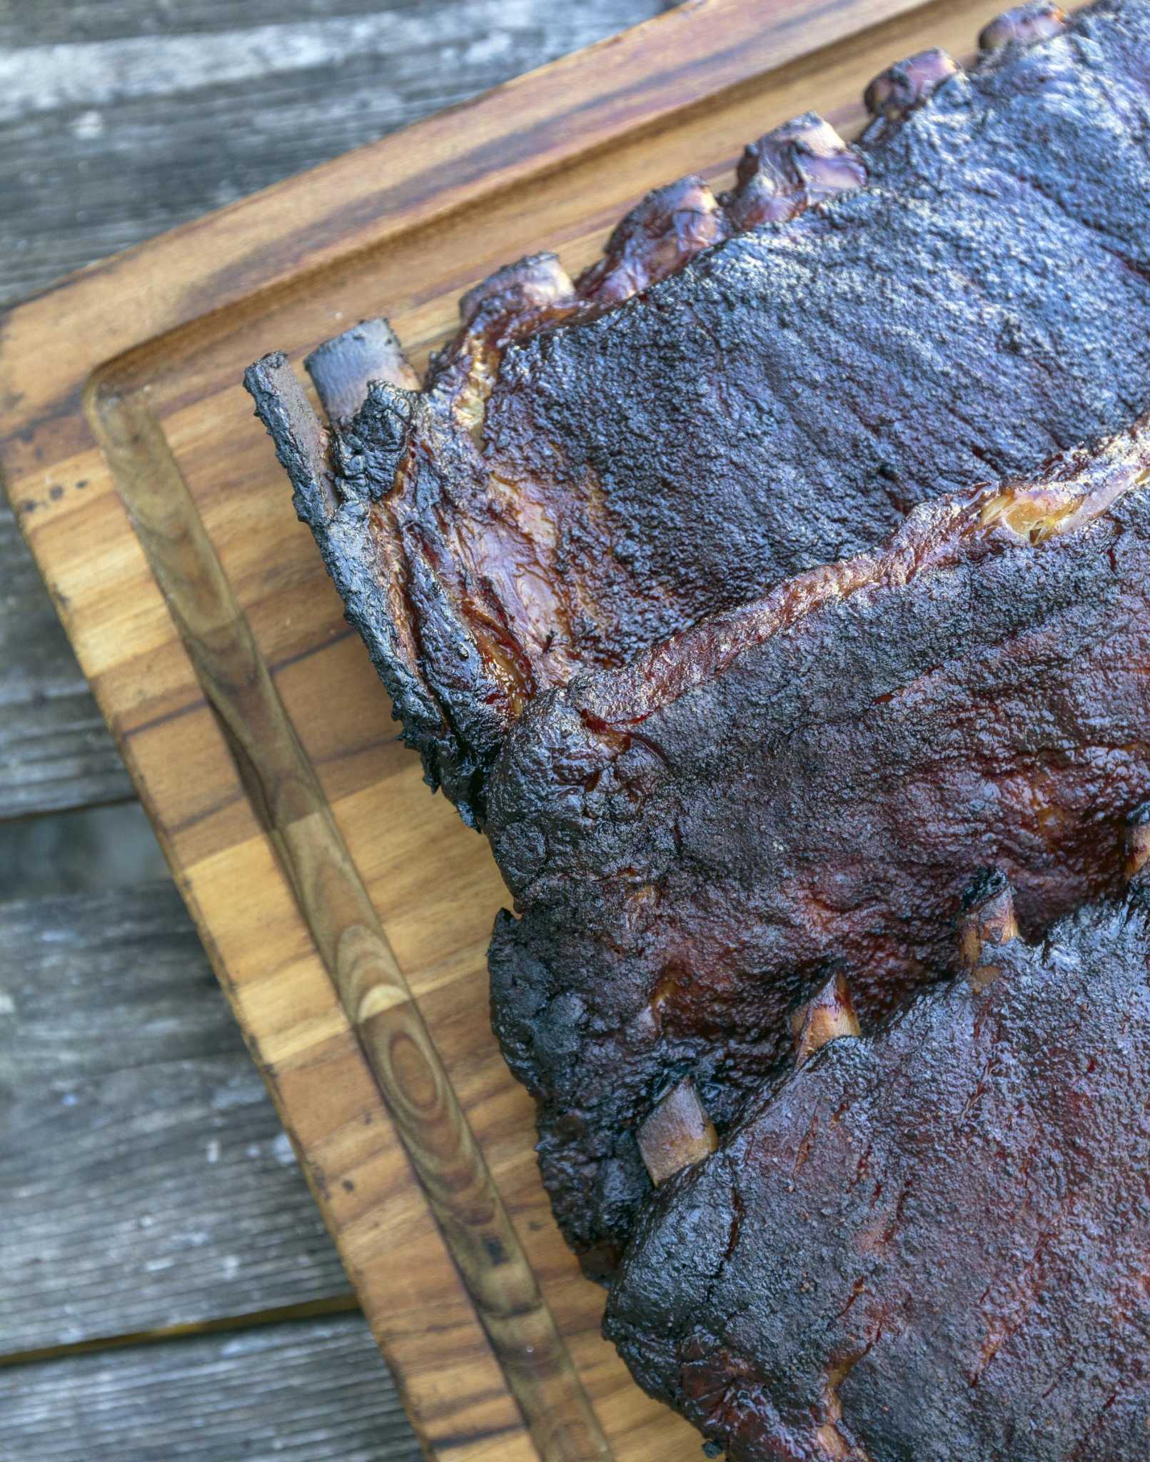
<path id="1" fill-rule="evenodd" d="M 867 165 L 818 113 L 785 121 L 753 142 L 738 167 L 738 186 L 725 196 L 735 230 L 783 222 L 814 203 L 867 183 Z"/>

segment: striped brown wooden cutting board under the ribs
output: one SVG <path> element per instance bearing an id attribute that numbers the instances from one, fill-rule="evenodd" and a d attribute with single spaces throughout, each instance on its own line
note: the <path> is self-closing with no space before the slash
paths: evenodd
<path id="1" fill-rule="evenodd" d="M 576 272 L 647 189 L 956 56 L 1001 9 L 694 0 L 0 319 L 0 471 L 430 1455 L 687 1462 L 599 1339 L 488 1026 L 504 890 L 424 787 L 240 386 L 386 313 Z M 259 139 L 253 137 L 253 146 Z"/>

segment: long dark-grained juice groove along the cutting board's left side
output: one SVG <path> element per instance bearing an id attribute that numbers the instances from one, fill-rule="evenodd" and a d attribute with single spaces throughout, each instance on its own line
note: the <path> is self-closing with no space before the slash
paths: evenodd
<path id="1" fill-rule="evenodd" d="M 105 385 L 91 402 L 205 696 L 539 1456 L 606 1462 L 606 1439 L 168 442 L 139 396 Z"/>

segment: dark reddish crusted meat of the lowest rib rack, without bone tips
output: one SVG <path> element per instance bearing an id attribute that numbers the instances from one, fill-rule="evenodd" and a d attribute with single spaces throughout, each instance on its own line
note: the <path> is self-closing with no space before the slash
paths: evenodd
<path id="1" fill-rule="evenodd" d="M 1143 1462 L 1144 892 L 793 1072 L 644 1213 L 608 1301 L 731 1462 Z"/>

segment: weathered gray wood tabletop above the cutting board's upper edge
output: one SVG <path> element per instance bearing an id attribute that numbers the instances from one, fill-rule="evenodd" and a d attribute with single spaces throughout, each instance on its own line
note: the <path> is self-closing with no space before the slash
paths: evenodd
<path id="1" fill-rule="evenodd" d="M 9 0 L 0 304 L 665 7 Z"/>

